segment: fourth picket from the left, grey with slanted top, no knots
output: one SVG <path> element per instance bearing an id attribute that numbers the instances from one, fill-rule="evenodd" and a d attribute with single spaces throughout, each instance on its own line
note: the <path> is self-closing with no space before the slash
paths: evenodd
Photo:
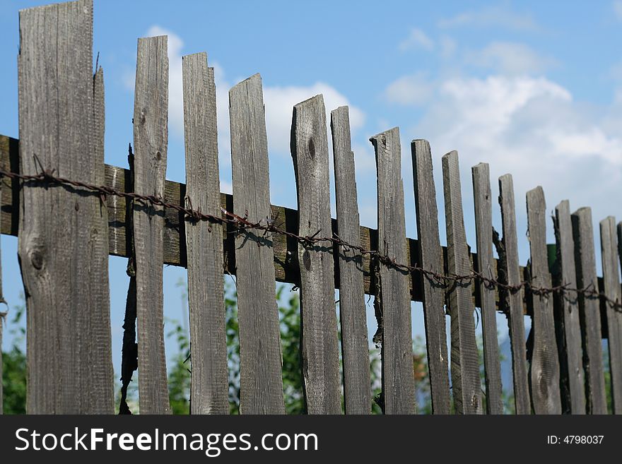
<path id="1" fill-rule="evenodd" d="M 251 222 L 265 223 L 271 218 L 270 179 L 259 74 L 229 90 L 229 121 L 233 212 L 246 215 Z M 216 208 L 218 200 L 216 189 Z M 252 230 L 237 234 L 235 275 L 240 327 L 240 413 L 243 414 L 285 413 L 273 261 L 271 237 Z M 215 269 L 214 275 L 219 274 L 221 270 Z"/>

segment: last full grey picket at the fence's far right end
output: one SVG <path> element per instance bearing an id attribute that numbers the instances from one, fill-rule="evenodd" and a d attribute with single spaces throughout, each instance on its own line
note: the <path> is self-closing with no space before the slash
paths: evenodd
<path id="1" fill-rule="evenodd" d="M 606 297 L 621 302 L 620 273 L 616 220 L 608 216 L 600 222 L 600 244 L 603 268 L 603 291 Z M 622 312 L 605 303 L 609 373 L 611 374 L 611 403 L 614 414 L 622 414 Z"/>

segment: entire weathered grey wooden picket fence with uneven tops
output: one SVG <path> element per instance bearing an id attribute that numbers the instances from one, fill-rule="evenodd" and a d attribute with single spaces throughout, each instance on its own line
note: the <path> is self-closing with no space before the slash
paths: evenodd
<path id="1" fill-rule="evenodd" d="M 382 345 L 382 408 L 416 412 L 411 300 L 423 302 L 433 412 L 498 414 L 495 312 L 507 315 L 518 414 L 606 413 L 602 338 L 614 412 L 622 412 L 622 223 L 600 223 L 597 278 L 589 208 L 555 210 L 546 244 L 544 192 L 527 193 L 531 258 L 517 252 L 510 174 L 499 179 L 503 237 L 492 227 L 488 165 L 472 168 L 477 254 L 464 232 L 459 160 L 442 157 L 447 247 L 440 244 L 430 145 L 411 143 L 418 240 L 406 237 L 399 129 L 370 138 L 378 229 L 360 227 L 348 108 L 331 112 L 336 220 L 322 95 L 293 107 L 298 210 L 272 206 L 259 74 L 229 92 L 233 196 L 218 179 L 216 89 L 205 53 L 183 57 L 187 184 L 165 180 L 167 38 L 138 41 L 131 169 L 104 164 L 104 81 L 93 74 L 93 4 L 20 12 L 19 141 L 0 136 L 1 232 L 18 236 L 27 306 L 30 413 L 112 413 L 108 255 L 127 256 L 124 385 L 138 369 L 142 413 L 169 413 L 163 264 L 188 270 L 191 412 L 228 412 L 223 271 L 236 275 L 240 412 L 286 412 L 274 282 L 300 287 L 307 411 L 371 410 L 365 294 Z M 499 259 L 493 258 L 493 246 Z M 548 259 L 549 251 L 556 252 Z M 341 340 L 334 289 L 339 289 Z M 474 311 L 481 308 L 483 401 Z M 525 343 L 524 314 L 532 317 Z M 445 320 L 450 316 L 450 355 Z M 134 323 L 139 338 L 134 350 Z M 339 354 L 343 357 L 343 376 Z M 134 351 L 133 351 L 134 350 Z M 451 365 L 449 363 L 451 359 Z M 133 365 L 135 364 L 135 365 Z M 485 406 L 484 406 L 485 404 Z M 122 405 L 122 412 L 124 408 Z"/>

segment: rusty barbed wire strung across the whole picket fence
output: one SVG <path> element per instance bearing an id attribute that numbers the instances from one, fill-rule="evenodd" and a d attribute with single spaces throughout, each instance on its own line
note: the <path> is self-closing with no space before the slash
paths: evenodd
<path id="1" fill-rule="evenodd" d="M 277 227 L 274 224 L 274 221 L 270 220 L 269 218 L 266 219 L 266 222 L 252 222 L 248 220 L 247 217 L 242 217 L 231 211 L 225 210 L 225 208 L 222 207 L 221 213 L 223 214 L 223 216 L 211 215 L 208 213 L 203 213 L 200 208 L 192 208 L 192 201 L 190 201 L 190 198 L 188 197 L 185 198 L 184 206 L 181 206 L 175 203 L 169 203 L 160 196 L 141 195 L 136 194 L 136 192 L 119 191 L 105 185 L 88 184 L 87 182 L 81 182 L 73 179 L 67 179 L 65 177 L 60 177 L 54 174 L 54 169 L 45 169 L 42 167 L 40 162 L 38 164 L 41 166 L 41 172 L 38 174 L 20 174 L 18 172 L 7 171 L 6 169 L 0 169 L 0 177 L 8 177 L 9 179 L 17 179 L 23 182 L 47 182 L 51 184 L 85 189 L 86 191 L 91 191 L 94 194 L 98 194 L 102 203 L 105 203 L 107 196 L 128 198 L 130 200 L 136 201 L 137 203 L 141 203 L 141 205 L 143 206 L 151 205 L 161 206 L 163 208 L 171 208 L 173 210 L 176 210 L 178 213 L 182 213 L 184 215 L 184 218 L 190 221 L 209 221 L 222 225 L 232 225 L 233 227 L 235 227 L 237 232 L 244 230 L 261 230 L 262 232 L 264 232 L 264 234 L 280 234 L 285 237 L 294 239 L 296 242 L 298 242 L 298 244 L 301 244 L 305 247 L 313 247 L 317 246 L 317 244 L 322 243 L 331 244 L 331 246 L 341 247 L 341 249 L 346 252 L 358 251 L 358 253 L 363 256 L 370 256 L 371 259 L 375 259 L 377 260 L 377 262 L 382 263 L 385 266 L 401 270 L 405 273 L 421 273 L 421 275 L 425 276 L 426 278 L 433 280 L 433 282 L 435 282 L 435 285 L 444 288 L 450 287 L 452 285 L 469 285 L 473 282 L 479 281 L 483 283 L 483 285 L 486 286 L 488 289 L 497 288 L 498 290 L 503 290 L 505 292 L 511 293 L 525 290 L 526 292 L 530 292 L 533 295 L 547 297 L 548 295 L 551 295 L 553 293 L 563 294 L 568 292 L 574 293 L 577 296 L 583 295 L 585 297 L 599 298 L 601 301 L 609 304 L 610 307 L 616 309 L 616 311 L 622 311 L 621 302 L 607 297 L 607 295 L 599 292 L 591 284 L 585 288 L 570 287 L 567 284 L 555 285 L 553 287 L 535 287 L 528 280 L 524 280 L 517 285 L 509 285 L 505 282 L 496 280 L 495 278 L 487 277 L 486 275 L 483 275 L 483 273 L 477 272 L 476 270 L 471 270 L 471 272 L 466 275 L 441 274 L 433 270 L 422 268 L 421 266 L 411 266 L 405 263 L 399 263 L 391 256 L 382 255 L 377 250 L 365 249 L 363 246 L 348 243 L 342 240 L 339 235 L 334 232 L 331 237 L 321 236 L 320 233 L 322 232 L 322 230 L 318 230 L 317 232 L 315 232 L 315 234 L 312 235 L 302 236 L 282 229 L 281 227 Z"/>

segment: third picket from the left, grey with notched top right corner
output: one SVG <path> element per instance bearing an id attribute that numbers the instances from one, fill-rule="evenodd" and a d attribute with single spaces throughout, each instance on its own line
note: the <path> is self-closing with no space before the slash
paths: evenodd
<path id="1" fill-rule="evenodd" d="M 216 87 L 213 79 L 213 69 L 207 67 L 205 53 L 183 57 L 187 205 L 201 208 L 207 214 L 219 215 Z M 192 414 L 229 412 L 222 236 L 223 226 L 220 224 L 186 222 Z"/>

